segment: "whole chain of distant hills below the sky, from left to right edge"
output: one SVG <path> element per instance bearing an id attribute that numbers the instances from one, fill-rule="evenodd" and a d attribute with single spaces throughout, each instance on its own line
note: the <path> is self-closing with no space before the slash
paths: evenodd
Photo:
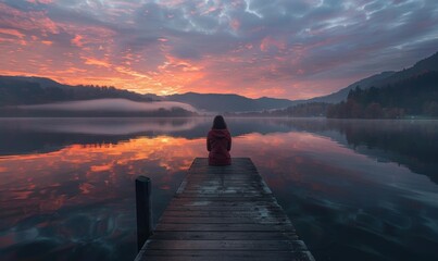
<path id="1" fill-rule="evenodd" d="M 0 76 L 0 107 L 116 98 L 133 101 L 177 101 L 188 103 L 199 110 L 218 113 L 254 112 L 286 108 L 289 108 L 288 111 L 297 111 L 298 109 L 291 109 L 291 107 L 309 103 L 310 108 L 305 108 L 305 110 L 303 107 L 299 108 L 300 113 L 301 111 L 312 111 L 312 113 L 314 113 L 315 104 L 320 108 L 325 108 L 323 103 L 338 103 L 345 101 L 349 92 L 356 87 L 365 90 L 371 87 L 381 88 L 393 86 L 403 80 L 411 80 L 412 77 L 423 75 L 427 72 L 438 72 L 438 52 L 421 60 L 412 67 L 399 72 L 375 74 L 358 80 L 337 92 L 309 100 L 288 100 L 267 97 L 251 99 L 233 94 L 197 92 L 160 97 L 155 95 L 140 95 L 108 86 L 70 86 L 42 77 Z"/>

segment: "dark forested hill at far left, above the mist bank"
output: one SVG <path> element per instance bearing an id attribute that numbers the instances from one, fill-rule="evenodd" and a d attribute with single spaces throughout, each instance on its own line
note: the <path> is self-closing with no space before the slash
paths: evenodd
<path id="1" fill-rule="evenodd" d="M 108 86 L 70 86 L 49 78 L 0 76 L 0 107 L 103 98 L 152 100 L 140 94 Z"/>

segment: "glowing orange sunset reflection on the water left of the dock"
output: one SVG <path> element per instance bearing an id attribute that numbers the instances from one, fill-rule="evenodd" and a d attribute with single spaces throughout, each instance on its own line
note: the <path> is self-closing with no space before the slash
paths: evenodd
<path id="1" fill-rule="evenodd" d="M 136 175 L 153 181 L 157 220 L 199 146 L 170 136 L 139 137 L 0 159 L 1 260 L 45 260 L 41 254 L 59 258 L 65 251 L 84 254 L 72 260 L 93 260 L 89 252 L 134 258 Z"/>

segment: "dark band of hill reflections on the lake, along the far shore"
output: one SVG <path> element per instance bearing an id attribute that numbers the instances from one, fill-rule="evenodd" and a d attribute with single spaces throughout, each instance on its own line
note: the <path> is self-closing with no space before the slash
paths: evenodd
<path id="1" fill-rule="evenodd" d="M 398 162 L 438 183 L 437 121 L 229 119 L 233 135 L 310 132 L 379 161 Z M 116 145 L 137 137 L 203 138 L 211 119 L 0 119 L 0 156 Z"/>

